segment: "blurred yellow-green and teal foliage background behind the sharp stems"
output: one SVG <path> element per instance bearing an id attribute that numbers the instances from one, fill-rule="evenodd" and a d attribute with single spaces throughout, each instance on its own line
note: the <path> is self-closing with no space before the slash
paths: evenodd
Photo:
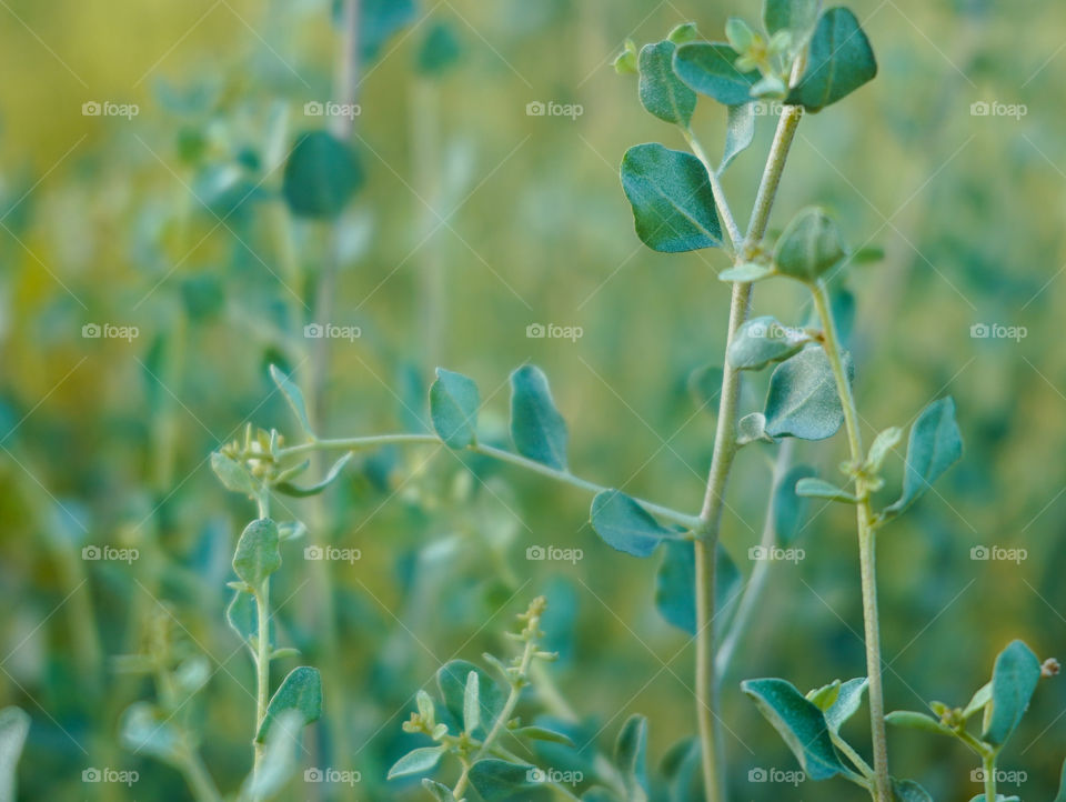
<path id="1" fill-rule="evenodd" d="M 502 434 L 507 374 L 534 361 L 577 473 L 698 507 L 714 420 L 688 377 L 721 361 L 725 259 L 654 254 L 634 235 L 623 152 L 683 143 L 611 60 L 626 37 L 656 40 L 690 19 L 716 38 L 730 14 L 757 19 L 757 3 L 443 0 L 408 19 L 402 2 L 364 2 L 374 22 L 353 147 L 365 180 L 336 227 L 289 217 L 278 169 L 301 131 L 331 122 L 304 113 L 335 92 L 330 2 L 0 3 L 0 701 L 32 716 L 19 799 L 190 799 L 173 769 L 119 739 L 122 711 L 157 689 L 117 658 L 161 642 L 207 659 L 210 681 L 182 720 L 219 785 L 239 788 L 253 675 L 223 611 L 253 510 L 207 460 L 245 421 L 295 437 L 270 362 L 314 387 L 326 433 L 353 435 L 424 427 L 435 364 L 477 380 L 486 425 Z M 879 558 L 889 709 L 962 704 L 1013 638 L 1066 658 L 1066 7 L 853 8 L 881 73 L 803 121 L 772 228 L 822 202 L 855 245 L 884 249 L 847 278 L 867 437 L 938 395 L 957 401 L 965 459 L 883 532 Z M 529 116 L 534 101 L 581 114 Z M 972 113 L 982 101 L 1020 108 Z M 139 113 L 87 116 L 87 102 Z M 710 106 L 696 123 L 716 149 L 724 120 Z M 735 210 L 750 208 L 772 128 L 760 120 L 726 176 Z M 318 319 L 323 280 L 329 321 L 361 337 L 319 351 L 300 332 Z M 809 311 L 787 283 L 760 285 L 755 309 L 786 322 Z M 583 335 L 531 339 L 534 323 Z M 974 337 L 982 323 L 1018 337 Z M 87 324 L 137 337 L 87 338 Z M 748 409 L 765 380 L 748 382 Z M 844 450 L 836 438 L 795 454 L 832 477 Z M 604 547 L 577 490 L 480 462 L 472 478 L 446 452 L 430 457 L 363 455 L 321 502 L 286 502 L 316 542 L 361 551 L 323 567 L 294 545 L 276 580 L 282 640 L 325 679 L 309 764 L 362 778 L 354 789 L 298 782 L 292 799 L 421 794 L 383 781 L 412 745 L 400 730 L 411 695 L 451 656 L 505 652 L 502 632 L 537 593 L 555 611 L 555 686 L 601 745 L 633 712 L 651 716 L 653 763 L 693 734 L 693 649 L 654 608 L 657 558 Z M 746 449 L 731 484 L 724 539 L 745 574 L 772 458 Z M 892 470 L 889 484 L 898 461 Z M 863 798 L 843 782 L 747 781 L 795 764 L 741 679 L 806 689 L 864 671 L 849 511 L 813 513 L 805 559 L 774 567 L 724 683 L 738 800 Z M 82 559 L 105 544 L 139 559 Z M 527 560 L 537 544 L 584 557 Z M 1026 559 L 975 560 L 975 547 Z M 1054 796 L 1064 711 L 1066 684 L 1042 683 L 1000 760 L 1026 773 L 1026 801 Z M 865 751 L 863 718 L 849 734 Z M 889 736 L 894 772 L 935 799 L 980 791 L 954 743 Z M 87 768 L 140 779 L 84 783 Z"/>

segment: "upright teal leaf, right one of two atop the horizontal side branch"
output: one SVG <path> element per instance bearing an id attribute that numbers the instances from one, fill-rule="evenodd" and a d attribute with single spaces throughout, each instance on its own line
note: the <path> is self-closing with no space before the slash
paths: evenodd
<path id="1" fill-rule="evenodd" d="M 555 409 L 547 377 L 532 364 L 511 374 L 511 439 L 523 457 L 566 470 L 566 422 Z"/>

